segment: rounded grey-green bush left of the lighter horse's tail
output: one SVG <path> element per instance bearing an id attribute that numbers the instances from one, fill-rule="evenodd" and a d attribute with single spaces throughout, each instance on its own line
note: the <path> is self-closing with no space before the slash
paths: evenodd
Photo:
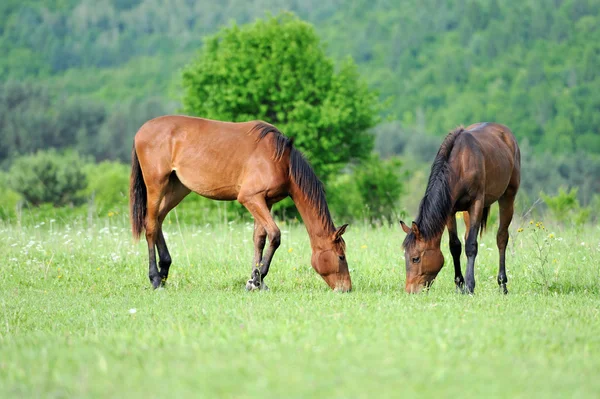
<path id="1" fill-rule="evenodd" d="M 76 152 L 38 151 L 15 159 L 9 171 L 10 187 L 33 206 L 78 205 L 87 186 L 84 162 Z"/>

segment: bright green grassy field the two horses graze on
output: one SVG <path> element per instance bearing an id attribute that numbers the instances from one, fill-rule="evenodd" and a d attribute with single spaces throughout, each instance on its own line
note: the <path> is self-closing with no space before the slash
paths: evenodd
<path id="1" fill-rule="evenodd" d="M 246 292 L 250 224 L 171 220 L 157 291 L 123 217 L 0 226 L 0 397 L 600 395 L 597 227 L 514 223 L 508 296 L 488 231 L 467 296 L 446 244 L 430 292 L 407 295 L 400 228 L 354 225 L 354 290 L 336 294 L 301 225 L 281 225 L 270 291 Z"/>

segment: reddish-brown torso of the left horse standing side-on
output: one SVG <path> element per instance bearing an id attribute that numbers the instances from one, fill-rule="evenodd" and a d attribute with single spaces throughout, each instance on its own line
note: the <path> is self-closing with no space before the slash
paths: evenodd
<path id="1" fill-rule="evenodd" d="M 257 186 L 272 185 L 287 176 L 289 163 L 273 161 L 273 139 L 259 140 L 256 124 L 177 115 L 152 119 L 135 137 L 144 178 L 174 171 L 190 190 L 220 200 L 236 199 L 249 176 Z"/>

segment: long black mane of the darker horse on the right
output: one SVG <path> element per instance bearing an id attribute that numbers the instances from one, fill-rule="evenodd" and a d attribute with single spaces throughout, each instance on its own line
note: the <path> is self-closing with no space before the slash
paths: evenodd
<path id="1" fill-rule="evenodd" d="M 425 190 L 425 196 L 419 205 L 419 214 L 415 223 L 424 240 L 430 240 L 441 234 L 446 227 L 446 221 L 452 210 L 450 192 L 450 165 L 448 158 L 454 147 L 458 135 L 465 129 L 460 126 L 448 133 L 431 165 L 431 174 Z M 402 246 L 410 248 L 414 245 L 416 237 L 410 232 L 404 239 Z"/>

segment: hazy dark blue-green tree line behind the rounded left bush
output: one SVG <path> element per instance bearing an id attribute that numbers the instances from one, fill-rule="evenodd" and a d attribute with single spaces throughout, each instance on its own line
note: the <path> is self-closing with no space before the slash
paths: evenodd
<path id="1" fill-rule="evenodd" d="M 57 102 L 62 105 L 56 107 Z M 97 101 L 64 98 L 43 85 L 0 83 L 0 165 L 47 148 L 128 162 L 136 131 L 164 113 L 163 107 L 148 98 L 108 109 Z"/>

